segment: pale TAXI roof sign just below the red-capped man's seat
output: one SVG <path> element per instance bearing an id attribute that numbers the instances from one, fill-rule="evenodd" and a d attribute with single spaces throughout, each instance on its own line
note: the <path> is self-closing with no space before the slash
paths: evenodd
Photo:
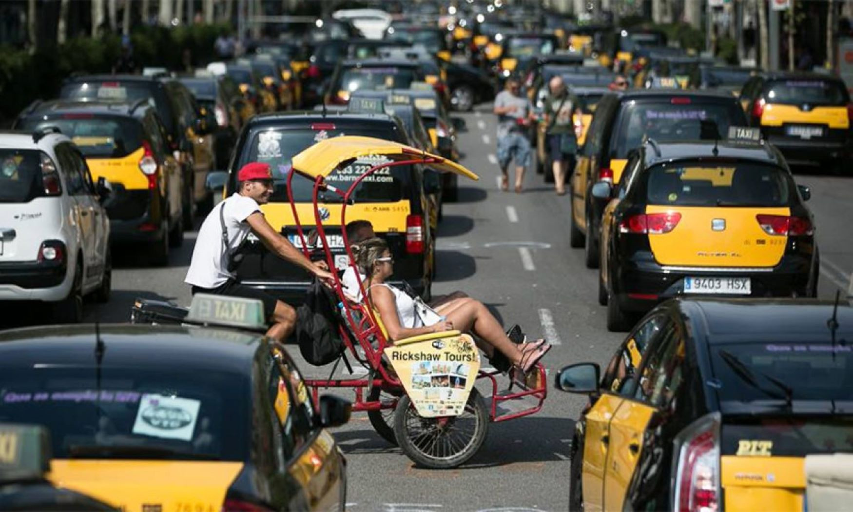
<path id="1" fill-rule="evenodd" d="M 266 329 L 263 302 L 228 295 L 194 294 L 186 319 L 192 323 Z"/>

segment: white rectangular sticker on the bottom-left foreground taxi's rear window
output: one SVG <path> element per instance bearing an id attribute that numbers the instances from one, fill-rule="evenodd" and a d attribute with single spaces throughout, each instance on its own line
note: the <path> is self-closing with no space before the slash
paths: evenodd
<path id="1" fill-rule="evenodd" d="M 163 439 L 193 439 L 201 402 L 159 394 L 144 394 L 139 401 L 133 433 Z"/>

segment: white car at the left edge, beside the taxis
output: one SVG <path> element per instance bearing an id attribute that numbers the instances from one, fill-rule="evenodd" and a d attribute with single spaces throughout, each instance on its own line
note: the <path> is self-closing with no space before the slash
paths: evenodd
<path id="1" fill-rule="evenodd" d="M 108 193 L 55 128 L 0 133 L 0 300 L 50 303 L 67 323 L 82 319 L 85 294 L 109 300 Z"/>

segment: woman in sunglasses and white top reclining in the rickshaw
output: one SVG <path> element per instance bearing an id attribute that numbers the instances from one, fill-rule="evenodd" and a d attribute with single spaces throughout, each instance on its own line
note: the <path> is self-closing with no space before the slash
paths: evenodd
<path id="1" fill-rule="evenodd" d="M 388 244 L 381 238 L 370 238 L 352 247 L 359 271 L 366 276 L 368 300 L 379 311 L 391 341 L 458 329 L 470 332 L 485 346 L 479 345 L 489 358 L 501 352 L 516 368 L 529 371 L 543 358 L 551 346 L 545 340 L 516 345 L 503 332 L 501 324 L 479 300 L 470 297 L 450 300 L 436 307 L 440 318 L 427 325 L 415 311 L 415 300 L 386 283 L 393 274 L 394 260 Z"/>

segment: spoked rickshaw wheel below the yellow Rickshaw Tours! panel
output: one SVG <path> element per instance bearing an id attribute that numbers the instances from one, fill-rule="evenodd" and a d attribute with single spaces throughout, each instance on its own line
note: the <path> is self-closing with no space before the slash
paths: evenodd
<path id="1" fill-rule="evenodd" d="M 394 432 L 403 453 L 431 469 L 456 468 L 466 463 L 483 445 L 488 424 L 489 411 L 477 389 L 471 390 L 460 416 L 419 416 L 409 395 L 403 395 L 394 411 Z"/>

